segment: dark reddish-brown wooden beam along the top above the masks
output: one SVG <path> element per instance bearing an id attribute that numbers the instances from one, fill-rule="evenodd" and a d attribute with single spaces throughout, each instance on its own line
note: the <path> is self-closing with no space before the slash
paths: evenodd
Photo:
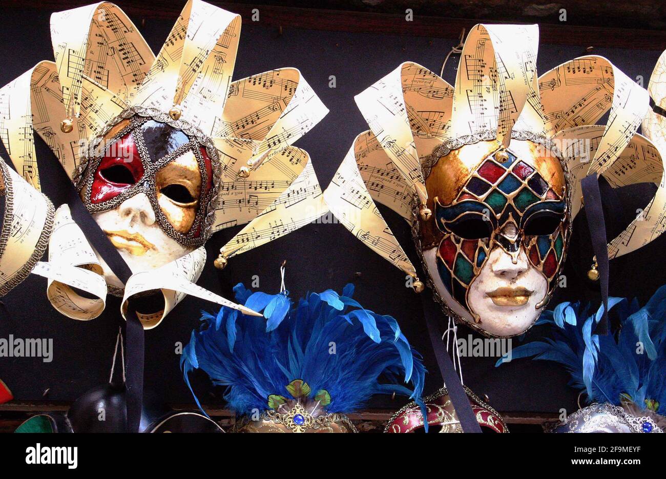
<path id="1" fill-rule="evenodd" d="M 244 23 L 252 23 L 252 9 L 260 12 L 259 25 L 299 28 L 322 31 L 346 31 L 356 33 L 383 33 L 389 35 L 412 35 L 415 37 L 458 38 L 462 29 L 469 31 L 476 23 L 501 23 L 492 18 L 456 19 L 449 17 L 422 16 L 415 13 L 414 21 L 406 21 L 405 15 L 370 13 L 362 11 L 327 10 L 315 8 L 279 7 L 274 5 L 248 5 L 208 0 L 229 11 L 240 13 Z M 31 8 L 47 11 L 88 5 L 91 0 L 41 0 Z M 164 0 L 117 0 L 115 1 L 134 21 L 141 19 L 165 19 L 175 21 L 184 2 Z M 5 0 L 3 7 L 27 9 L 24 0 Z M 666 31 L 639 30 L 605 27 L 585 27 L 567 23 L 541 23 L 540 41 L 549 45 L 577 45 L 582 47 L 615 47 L 643 50 L 666 49 Z"/>

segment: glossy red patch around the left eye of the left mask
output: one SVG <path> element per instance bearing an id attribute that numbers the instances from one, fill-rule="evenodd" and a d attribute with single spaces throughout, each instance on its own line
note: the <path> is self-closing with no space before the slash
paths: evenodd
<path id="1" fill-rule="evenodd" d="M 93 178 L 90 201 L 104 203 L 141 180 L 144 169 L 131 133 L 109 145 Z"/>

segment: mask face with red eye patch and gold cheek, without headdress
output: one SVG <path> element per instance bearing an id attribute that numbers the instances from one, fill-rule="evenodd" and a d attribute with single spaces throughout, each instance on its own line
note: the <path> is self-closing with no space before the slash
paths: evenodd
<path id="1" fill-rule="evenodd" d="M 81 199 L 129 266 L 163 266 L 210 235 L 216 151 L 200 131 L 135 107 L 93 142 Z"/>

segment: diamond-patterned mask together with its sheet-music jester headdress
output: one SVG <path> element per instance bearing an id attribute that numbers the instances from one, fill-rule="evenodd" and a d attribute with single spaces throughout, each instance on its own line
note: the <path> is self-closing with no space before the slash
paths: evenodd
<path id="1" fill-rule="evenodd" d="M 455 87 L 416 63 L 400 65 L 356 96 L 370 131 L 324 192 L 332 213 L 420 292 L 424 283 L 374 202 L 404 217 L 444 312 L 490 336 L 525 332 L 547 304 L 585 176 L 659 187 L 608 244 L 610 258 L 662 233 L 663 162 L 636 133 L 645 89 L 595 55 L 538 77 L 537 47 L 537 25 L 477 25 Z M 595 125 L 607 111 L 607 125 Z"/>

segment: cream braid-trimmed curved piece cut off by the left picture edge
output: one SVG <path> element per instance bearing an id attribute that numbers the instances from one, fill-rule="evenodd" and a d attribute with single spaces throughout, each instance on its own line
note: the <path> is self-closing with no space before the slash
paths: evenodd
<path id="1" fill-rule="evenodd" d="M 0 159 L 0 296 L 30 274 L 53 230 L 53 205 Z"/>

